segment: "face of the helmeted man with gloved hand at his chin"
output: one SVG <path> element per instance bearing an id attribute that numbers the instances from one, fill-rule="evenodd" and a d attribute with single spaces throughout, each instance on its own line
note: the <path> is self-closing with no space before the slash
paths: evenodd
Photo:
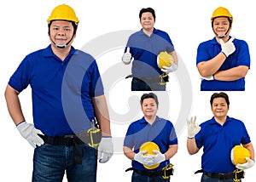
<path id="1" fill-rule="evenodd" d="M 212 22 L 212 30 L 217 37 L 228 37 L 230 29 L 230 21 L 227 17 L 218 17 Z"/>

